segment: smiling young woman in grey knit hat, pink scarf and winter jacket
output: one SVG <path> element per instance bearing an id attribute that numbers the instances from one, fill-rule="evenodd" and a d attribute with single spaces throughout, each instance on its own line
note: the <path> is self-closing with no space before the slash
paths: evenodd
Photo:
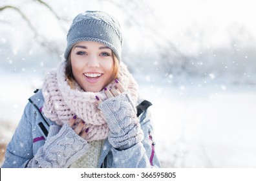
<path id="1" fill-rule="evenodd" d="M 74 18 L 65 59 L 29 99 L 2 167 L 160 167 L 122 40 L 105 12 Z"/>

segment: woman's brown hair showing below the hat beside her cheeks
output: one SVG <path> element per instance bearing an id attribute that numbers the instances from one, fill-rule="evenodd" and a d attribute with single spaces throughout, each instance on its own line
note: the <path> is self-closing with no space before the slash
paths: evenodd
<path id="1" fill-rule="evenodd" d="M 109 83 L 111 83 L 111 81 L 113 81 L 114 79 L 116 79 L 118 77 L 119 60 L 116 58 L 116 56 L 114 55 L 113 52 L 112 52 L 112 58 L 113 58 L 113 65 L 114 66 L 113 66 L 111 78 L 110 78 L 109 82 L 107 83 L 107 85 Z M 73 72 L 72 72 L 72 64 L 71 64 L 70 54 L 69 54 L 69 58 L 67 59 L 67 66 L 66 66 L 66 70 L 65 70 L 65 75 L 66 75 L 66 80 L 69 83 L 70 88 L 74 89 L 74 82 L 76 81 L 76 79 L 74 78 L 74 75 L 73 75 Z M 105 86 L 107 86 L 107 85 L 105 85 Z"/>

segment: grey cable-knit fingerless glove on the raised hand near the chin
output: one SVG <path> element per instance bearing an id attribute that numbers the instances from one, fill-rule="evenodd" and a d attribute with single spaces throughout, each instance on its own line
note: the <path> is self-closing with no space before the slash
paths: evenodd
<path id="1" fill-rule="evenodd" d="M 109 98 L 98 106 L 109 125 L 109 142 L 118 149 L 128 149 L 143 140 L 143 132 L 129 93 Z"/>

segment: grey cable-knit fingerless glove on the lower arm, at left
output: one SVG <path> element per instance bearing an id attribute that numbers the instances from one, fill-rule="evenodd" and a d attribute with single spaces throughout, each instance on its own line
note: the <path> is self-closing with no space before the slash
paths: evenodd
<path id="1" fill-rule="evenodd" d="M 85 154 L 89 147 L 87 141 L 67 124 L 59 128 L 57 125 L 50 126 L 47 142 L 28 162 L 28 167 L 67 168 Z"/>

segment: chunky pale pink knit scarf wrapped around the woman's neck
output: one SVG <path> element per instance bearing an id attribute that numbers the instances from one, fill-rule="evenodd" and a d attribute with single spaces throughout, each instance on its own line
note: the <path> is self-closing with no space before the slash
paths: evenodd
<path id="1" fill-rule="evenodd" d="M 76 123 L 83 120 L 85 122 L 84 129 L 89 128 L 87 138 L 85 138 L 87 141 L 107 138 L 109 127 L 96 105 L 95 98 L 97 95 L 104 100 L 107 98 L 105 93 L 103 91 L 85 92 L 78 83 L 75 83 L 75 88 L 71 89 L 65 76 L 66 65 L 67 61 L 61 61 L 56 70 L 48 71 L 45 76 L 43 83 L 43 97 L 45 98 L 43 112 L 45 116 L 58 125 L 63 125 L 76 114 L 78 117 Z M 122 62 L 120 62 L 118 80 L 125 90 L 131 93 L 133 101 L 136 103 L 138 85 Z M 109 89 L 113 87 L 114 83 L 107 85 Z"/>

